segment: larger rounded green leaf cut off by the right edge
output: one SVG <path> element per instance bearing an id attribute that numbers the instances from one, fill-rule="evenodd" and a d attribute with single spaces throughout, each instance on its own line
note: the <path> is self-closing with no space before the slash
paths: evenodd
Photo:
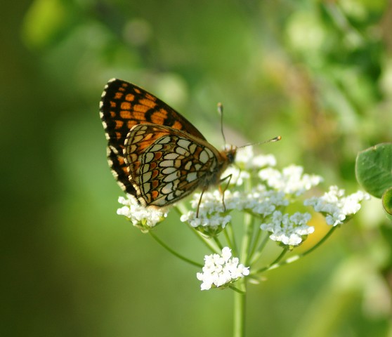
<path id="1" fill-rule="evenodd" d="M 377 144 L 359 152 L 355 175 L 367 192 L 381 198 L 392 187 L 392 143 Z"/>

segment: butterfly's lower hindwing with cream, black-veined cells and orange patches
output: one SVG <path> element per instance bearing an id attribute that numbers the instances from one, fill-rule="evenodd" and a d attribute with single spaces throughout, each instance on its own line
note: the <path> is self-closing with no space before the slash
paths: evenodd
<path id="1" fill-rule="evenodd" d="M 143 206 L 172 204 L 217 180 L 219 156 L 206 141 L 169 126 L 133 126 L 125 140 L 129 179 Z"/>

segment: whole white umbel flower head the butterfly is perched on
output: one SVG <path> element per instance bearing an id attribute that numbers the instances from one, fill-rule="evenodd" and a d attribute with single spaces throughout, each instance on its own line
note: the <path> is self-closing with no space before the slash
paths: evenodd
<path id="1" fill-rule="evenodd" d="M 205 191 L 202 195 L 195 193 L 190 209 L 181 212 L 181 221 L 201 234 L 200 238 L 208 246 L 213 246 L 211 242 L 225 246 L 220 242 L 221 233 L 225 233 L 227 244 L 221 255 L 205 256 L 202 272 L 197 273 L 197 278 L 202 281 L 202 290 L 226 287 L 248 276 L 252 263 L 261 256 L 265 246 L 261 242 L 266 242 L 265 239 L 281 246 L 284 253 L 291 251 L 315 232 L 315 227 L 309 225 L 315 212 L 324 216 L 325 223 L 334 228 L 351 219 L 360 210 L 360 203 L 370 198 L 360 191 L 346 195 L 344 190 L 332 186 L 321 197 L 304 199 L 305 192 L 309 194 L 322 182 L 320 176 L 304 173 L 303 168 L 296 165 L 277 170 L 274 167 L 275 157 L 254 156 L 251 147 L 238 150 L 235 164 L 222 175 L 223 178 L 230 176 L 230 183 L 223 193 L 220 190 Z M 120 197 L 119 202 L 123 206 L 117 213 L 129 218 L 143 232 L 166 217 L 163 209 L 145 209 L 131 196 L 128 199 Z M 233 232 L 242 225 L 233 223 L 233 215 L 240 212 L 253 219 L 253 227 L 244 230 L 248 234 L 251 232 L 254 238 L 249 240 L 254 244 L 248 247 L 253 252 L 253 256 L 247 257 L 247 261 L 251 261 L 249 267 L 240 264 L 239 258 L 232 257 L 230 250 L 235 247 Z"/>

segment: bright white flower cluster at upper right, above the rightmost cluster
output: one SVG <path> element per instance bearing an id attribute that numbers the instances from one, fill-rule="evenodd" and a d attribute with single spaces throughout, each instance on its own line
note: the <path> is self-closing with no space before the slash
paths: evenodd
<path id="1" fill-rule="evenodd" d="M 259 177 L 269 187 L 297 197 L 322 181 L 320 176 L 303 174 L 303 167 L 296 165 L 287 166 L 282 172 L 268 167 L 259 171 Z"/>

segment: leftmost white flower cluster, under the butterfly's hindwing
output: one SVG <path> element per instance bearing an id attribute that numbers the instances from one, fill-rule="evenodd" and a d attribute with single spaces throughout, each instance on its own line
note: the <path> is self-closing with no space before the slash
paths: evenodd
<path id="1" fill-rule="evenodd" d="M 117 214 L 126 216 L 134 226 L 142 230 L 149 230 L 164 220 L 167 215 L 164 209 L 141 206 L 131 194 L 127 194 L 127 199 L 119 197 L 119 203 L 124 206 L 121 209 L 117 209 Z"/>

